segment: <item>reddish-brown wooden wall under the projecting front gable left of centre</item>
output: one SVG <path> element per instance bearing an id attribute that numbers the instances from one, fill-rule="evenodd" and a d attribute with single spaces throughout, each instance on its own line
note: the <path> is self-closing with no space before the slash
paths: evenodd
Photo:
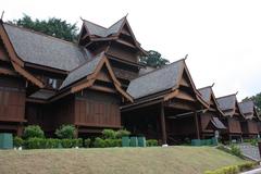
<path id="1" fill-rule="evenodd" d="M 120 99 L 111 94 L 85 90 L 75 98 L 75 124 L 120 127 Z"/>

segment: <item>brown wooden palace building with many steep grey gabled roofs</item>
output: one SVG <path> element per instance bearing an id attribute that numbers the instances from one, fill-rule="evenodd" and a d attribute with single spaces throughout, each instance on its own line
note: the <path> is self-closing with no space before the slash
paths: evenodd
<path id="1" fill-rule="evenodd" d="M 89 136 L 125 127 L 170 145 L 215 130 L 258 134 L 253 104 L 197 90 L 185 59 L 151 69 L 142 55 L 126 17 L 109 28 L 83 20 L 77 44 L 0 21 L 0 132 L 39 125 L 51 136 L 73 124 Z"/>

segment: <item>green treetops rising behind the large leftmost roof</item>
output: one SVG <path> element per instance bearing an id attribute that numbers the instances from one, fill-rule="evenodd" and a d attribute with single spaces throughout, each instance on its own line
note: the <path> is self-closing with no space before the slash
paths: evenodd
<path id="1" fill-rule="evenodd" d="M 17 26 L 23 26 L 36 32 L 40 32 L 57 38 L 61 38 L 67 41 L 75 41 L 77 39 L 77 26 L 75 24 L 69 24 L 66 21 L 55 17 L 46 20 L 32 20 L 30 16 L 24 14 L 22 18 L 10 22 Z"/>

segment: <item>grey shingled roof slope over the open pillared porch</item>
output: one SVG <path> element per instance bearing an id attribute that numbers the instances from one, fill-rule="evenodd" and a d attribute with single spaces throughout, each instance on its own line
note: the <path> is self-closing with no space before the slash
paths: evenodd
<path id="1" fill-rule="evenodd" d="M 151 71 L 130 82 L 127 92 L 134 98 L 142 98 L 152 94 L 172 89 L 178 85 L 179 76 L 184 70 L 184 60 Z"/>

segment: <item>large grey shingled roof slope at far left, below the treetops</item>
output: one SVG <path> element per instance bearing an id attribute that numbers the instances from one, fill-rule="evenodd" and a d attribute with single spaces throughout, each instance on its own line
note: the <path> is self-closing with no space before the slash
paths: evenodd
<path id="1" fill-rule="evenodd" d="M 3 24 L 10 41 L 24 62 L 72 71 L 86 61 L 85 50 L 62 39 L 11 24 Z"/>

